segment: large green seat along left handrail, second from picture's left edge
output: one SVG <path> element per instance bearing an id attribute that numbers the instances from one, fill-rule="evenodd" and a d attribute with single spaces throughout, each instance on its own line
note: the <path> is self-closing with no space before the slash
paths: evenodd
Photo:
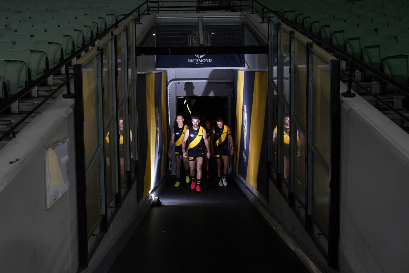
<path id="1" fill-rule="evenodd" d="M 6 82 L 9 95 L 16 94 L 29 81 L 30 50 L 0 50 L 0 60 L 6 62 Z"/>

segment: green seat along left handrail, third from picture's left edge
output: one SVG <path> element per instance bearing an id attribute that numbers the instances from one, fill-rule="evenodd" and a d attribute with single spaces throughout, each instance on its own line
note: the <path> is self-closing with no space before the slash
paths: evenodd
<path id="1" fill-rule="evenodd" d="M 43 76 L 44 72 L 49 66 L 47 63 L 47 41 L 18 41 L 14 45 L 15 49 L 28 49 L 30 50 L 30 62 L 29 67 L 31 70 L 31 79 L 36 80 Z"/>

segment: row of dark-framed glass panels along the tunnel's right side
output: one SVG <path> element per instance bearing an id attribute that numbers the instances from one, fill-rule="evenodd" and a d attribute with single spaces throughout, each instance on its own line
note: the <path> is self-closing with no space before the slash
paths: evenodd
<path id="1" fill-rule="evenodd" d="M 333 74 L 339 61 L 276 18 L 269 22 L 270 177 L 275 178 L 277 166 L 274 184 L 306 230 L 314 230 L 310 236 L 328 263 L 335 263 L 340 176 L 335 155 L 340 148 L 335 140 L 339 78 Z M 324 237 L 328 244 L 322 243 Z"/>

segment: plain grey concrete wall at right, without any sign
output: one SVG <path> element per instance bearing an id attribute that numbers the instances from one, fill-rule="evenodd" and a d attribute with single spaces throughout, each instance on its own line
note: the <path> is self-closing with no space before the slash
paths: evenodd
<path id="1" fill-rule="evenodd" d="M 340 268 L 406 272 L 408 134 L 360 97 L 342 99 Z"/>

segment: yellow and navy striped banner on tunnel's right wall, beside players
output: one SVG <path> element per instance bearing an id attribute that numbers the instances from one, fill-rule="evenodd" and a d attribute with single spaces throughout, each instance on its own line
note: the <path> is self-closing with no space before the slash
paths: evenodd
<path id="1" fill-rule="evenodd" d="M 236 129 L 233 168 L 267 196 L 267 72 L 234 70 Z"/>

